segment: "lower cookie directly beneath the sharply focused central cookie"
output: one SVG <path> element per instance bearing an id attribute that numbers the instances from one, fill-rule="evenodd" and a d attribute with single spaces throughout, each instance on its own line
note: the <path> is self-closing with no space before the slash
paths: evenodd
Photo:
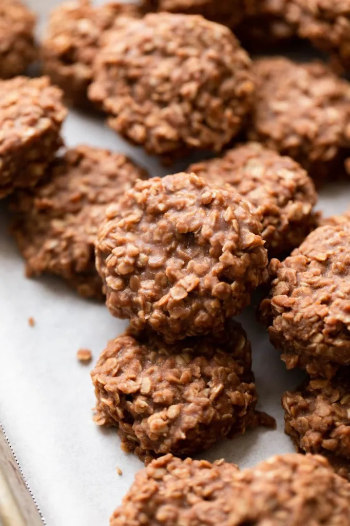
<path id="1" fill-rule="evenodd" d="M 194 454 L 260 421 L 274 423 L 255 412 L 251 347 L 234 321 L 216 336 L 176 343 L 129 329 L 108 343 L 91 377 L 95 421 L 119 427 L 122 448 L 146 461 Z"/>

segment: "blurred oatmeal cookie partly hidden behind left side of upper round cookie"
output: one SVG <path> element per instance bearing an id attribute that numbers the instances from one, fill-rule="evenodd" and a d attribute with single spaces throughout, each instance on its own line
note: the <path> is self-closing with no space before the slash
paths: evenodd
<path id="1" fill-rule="evenodd" d="M 104 33 L 139 16 L 134 4 L 117 2 L 92 6 L 90 0 L 60 4 L 52 12 L 42 45 L 44 72 L 77 106 L 88 106 L 87 88 L 92 80 L 92 63 Z"/>

